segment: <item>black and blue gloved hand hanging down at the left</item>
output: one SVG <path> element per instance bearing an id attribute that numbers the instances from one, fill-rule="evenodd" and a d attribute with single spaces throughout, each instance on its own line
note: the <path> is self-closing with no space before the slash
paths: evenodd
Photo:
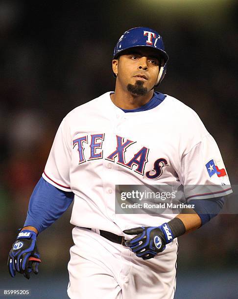
<path id="1" fill-rule="evenodd" d="M 8 256 L 7 265 L 10 275 L 15 277 L 17 271 L 29 279 L 32 270 L 38 274 L 40 262 L 40 254 L 36 246 L 36 233 L 31 230 L 20 232 Z"/>

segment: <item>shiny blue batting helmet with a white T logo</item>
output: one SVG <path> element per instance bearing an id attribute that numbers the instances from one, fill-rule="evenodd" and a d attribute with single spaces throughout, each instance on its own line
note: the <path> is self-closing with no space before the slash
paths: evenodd
<path id="1" fill-rule="evenodd" d="M 117 59 L 117 57 L 126 49 L 141 46 L 156 49 L 158 51 L 158 56 L 162 58 L 159 76 L 155 85 L 158 86 L 166 74 L 168 54 L 165 52 L 162 37 L 155 30 L 147 27 L 136 27 L 125 31 L 115 46 L 113 59 Z M 115 74 L 114 76 L 116 77 Z"/>

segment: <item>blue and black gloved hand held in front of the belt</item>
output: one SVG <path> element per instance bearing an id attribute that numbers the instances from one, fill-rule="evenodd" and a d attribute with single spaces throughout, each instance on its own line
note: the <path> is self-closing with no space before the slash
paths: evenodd
<path id="1" fill-rule="evenodd" d="M 174 236 L 167 223 L 161 226 L 136 227 L 123 231 L 126 235 L 137 235 L 125 242 L 138 257 L 149 259 L 156 256 L 166 248 Z"/>

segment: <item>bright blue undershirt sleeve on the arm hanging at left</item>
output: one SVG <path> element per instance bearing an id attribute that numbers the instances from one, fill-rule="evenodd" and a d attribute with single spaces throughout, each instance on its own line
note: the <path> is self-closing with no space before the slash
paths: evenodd
<path id="1" fill-rule="evenodd" d="M 42 177 L 31 194 L 24 226 L 41 233 L 69 208 L 73 197 L 73 192 L 62 191 Z"/>

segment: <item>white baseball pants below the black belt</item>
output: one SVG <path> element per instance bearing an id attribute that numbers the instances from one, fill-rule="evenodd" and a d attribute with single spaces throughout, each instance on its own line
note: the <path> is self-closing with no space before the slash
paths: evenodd
<path id="1" fill-rule="evenodd" d="M 75 227 L 68 264 L 71 299 L 172 299 L 176 287 L 177 239 L 143 260 L 98 230 Z"/>

